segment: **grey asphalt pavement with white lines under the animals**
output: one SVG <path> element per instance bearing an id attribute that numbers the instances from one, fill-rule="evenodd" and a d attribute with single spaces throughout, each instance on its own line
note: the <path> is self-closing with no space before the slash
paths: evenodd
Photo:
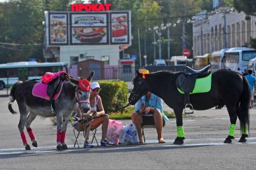
<path id="1" fill-rule="evenodd" d="M 25 151 L 17 129 L 19 114 L 12 115 L 7 104 L 8 98 L 1 97 L 0 169 L 256 169 L 256 109 L 251 109 L 251 135 L 245 144 L 238 143 L 239 121 L 233 144 L 223 144 L 230 125 L 228 112 L 223 108 L 195 111 L 193 117 L 184 117 L 186 140 L 181 146 L 172 145 L 175 120 L 164 127 L 166 144 L 157 143 L 155 129 L 146 129 L 146 144 L 87 149 L 73 148 L 75 138 L 69 124 L 69 150 L 57 151 L 56 127 L 48 118 L 39 117 L 32 124 L 39 147 Z M 14 109 L 17 111 L 17 105 Z M 166 106 L 164 109 L 171 111 Z M 123 121 L 130 123 L 131 120 Z M 96 136 L 101 139 L 100 128 Z"/>

